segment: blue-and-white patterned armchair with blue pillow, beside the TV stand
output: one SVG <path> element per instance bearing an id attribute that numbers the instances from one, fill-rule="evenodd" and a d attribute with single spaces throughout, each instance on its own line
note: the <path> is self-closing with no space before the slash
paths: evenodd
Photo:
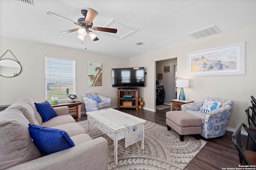
<path id="1" fill-rule="evenodd" d="M 111 98 L 93 93 L 82 94 L 86 112 L 110 108 Z"/>

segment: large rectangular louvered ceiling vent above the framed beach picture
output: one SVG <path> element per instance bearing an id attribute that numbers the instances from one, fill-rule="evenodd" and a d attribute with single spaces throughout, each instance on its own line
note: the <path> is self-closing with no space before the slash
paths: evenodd
<path id="1" fill-rule="evenodd" d="M 188 35 L 190 35 L 194 39 L 200 39 L 200 38 L 208 37 L 210 35 L 214 35 L 218 33 L 221 33 L 220 29 L 218 29 L 216 25 L 212 25 L 210 27 L 206 27 L 206 28 L 188 33 Z"/>

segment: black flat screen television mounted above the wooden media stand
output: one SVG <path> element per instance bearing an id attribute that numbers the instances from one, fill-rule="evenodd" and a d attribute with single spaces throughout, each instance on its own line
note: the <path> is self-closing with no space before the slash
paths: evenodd
<path id="1" fill-rule="evenodd" d="M 112 68 L 112 87 L 144 87 L 144 67 Z"/>

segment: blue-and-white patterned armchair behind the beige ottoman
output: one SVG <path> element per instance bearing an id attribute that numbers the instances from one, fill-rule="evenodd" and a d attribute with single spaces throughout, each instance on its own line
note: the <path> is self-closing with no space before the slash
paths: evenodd
<path id="1" fill-rule="evenodd" d="M 232 111 L 232 100 L 217 99 L 217 98 L 205 98 L 213 102 L 220 102 L 220 107 L 203 113 L 200 108 L 204 102 L 192 102 L 181 106 L 182 111 L 186 111 L 192 115 L 200 117 L 202 119 L 202 133 L 205 138 L 214 138 L 223 136 L 226 132 L 226 127 Z"/>

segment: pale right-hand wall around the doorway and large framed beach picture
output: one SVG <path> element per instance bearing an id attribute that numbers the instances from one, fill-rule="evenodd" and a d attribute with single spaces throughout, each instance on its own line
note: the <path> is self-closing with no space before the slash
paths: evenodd
<path id="1" fill-rule="evenodd" d="M 186 76 L 186 53 L 241 41 L 246 41 L 245 75 Z M 144 107 L 147 109 L 154 109 L 155 106 L 155 61 L 177 57 L 178 78 L 190 80 L 190 87 L 184 88 L 186 99 L 203 101 L 206 97 L 215 97 L 233 100 L 233 110 L 228 127 L 236 128 L 240 122 L 247 123 L 244 110 L 251 105 L 250 96 L 256 96 L 255 56 L 256 26 L 252 26 L 135 57 L 130 60 L 130 63 L 131 65 L 134 63 L 143 63 L 143 66 L 147 68 L 147 88 L 143 92 Z M 180 89 L 178 89 L 178 96 L 179 92 Z"/>

